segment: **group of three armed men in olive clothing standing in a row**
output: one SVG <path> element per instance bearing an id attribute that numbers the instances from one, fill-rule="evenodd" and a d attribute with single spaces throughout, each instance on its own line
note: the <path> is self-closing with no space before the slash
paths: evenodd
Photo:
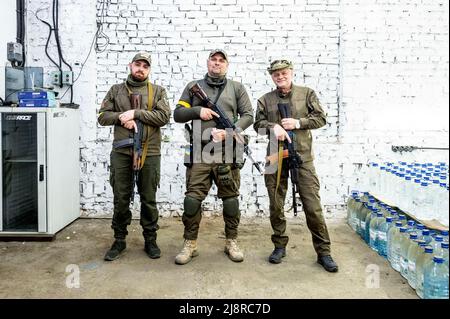
<path id="1" fill-rule="evenodd" d="M 158 210 L 156 207 L 156 189 L 160 178 L 160 127 L 169 122 L 170 107 L 166 90 L 148 81 L 150 55 L 145 52 L 136 54 L 130 63 L 130 75 L 126 82 L 114 85 L 103 100 L 98 116 L 101 125 L 114 125 L 114 144 L 129 139 L 136 131 L 136 122 L 144 124 L 143 141 L 148 144 L 144 149 L 144 163 L 139 172 L 138 191 L 141 198 L 141 225 L 145 239 L 145 251 L 150 258 L 159 258 L 161 251 L 156 244 L 158 230 Z M 253 124 L 253 109 L 244 86 L 227 79 L 229 59 L 224 50 L 210 52 L 207 59 L 207 74 L 203 79 L 188 83 L 177 103 L 174 119 L 178 123 L 192 123 L 191 141 L 197 139 L 198 149 L 190 149 L 192 156 L 186 164 L 186 193 L 184 198 L 184 244 L 175 257 L 175 263 L 186 264 L 198 255 L 197 238 L 202 219 L 202 201 L 208 195 L 212 184 L 217 185 L 217 195 L 223 201 L 223 219 L 225 222 L 224 252 L 232 261 L 241 262 L 244 254 L 237 245 L 240 222 L 239 187 L 242 159 L 236 152 L 236 143 L 232 142 L 232 156 L 228 156 L 227 139 L 233 140 L 233 134 L 218 127 L 214 119 L 219 114 L 208 107 L 204 101 L 193 94 L 192 87 L 201 85 L 211 101 L 223 108 L 226 115 L 233 119 L 238 133 Z M 326 115 L 315 92 L 307 87 L 292 83 L 293 65 L 286 60 L 273 61 L 268 72 L 276 90 L 263 95 L 258 100 L 256 120 L 253 125 L 258 133 L 272 134 L 277 140 L 289 139 L 287 131 L 295 134 L 298 153 L 302 164 L 298 169 L 298 190 L 306 214 L 306 221 L 312 234 L 318 263 L 327 271 L 336 272 L 338 266 L 331 258 L 330 238 L 322 213 L 319 180 L 313 164 L 311 129 L 326 124 Z M 140 109 L 131 109 L 130 96 L 140 94 Z M 276 106 L 279 103 L 289 105 L 292 117 L 281 119 Z M 196 131 L 198 131 L 196 134 Z M 274 141 L 272 140 L 271 143 Z M 194 143 L 195 144 L 195 143 Z M 270 143 L 269 143 L 270 144 Z M 211 145 L 213 146 L 211 148 Z M 191 143 L 192 146 L 192 143 Z M 271 149 L 269 147 L 269 149 Z M 275 147 L 276 149 L 276 147 Z M 127 225 L 131 222 L 129 209 L 130 197 L 134 191 L 132 183 L 131 147 L 114 148 L 111 152 L 110 183 L 114 192 L 114 216 L 112 228 L 115 241 L 105 255 L 105 260 L 117 259 L 125 249 Z M 283 160 L 285 162 L 285 160 Z M 275 246 L 269 257 L 271 263 L 280 263 L 286 255 L 289 237 L 286 235 L 284 201 L 287 192 L 288 171 L 286 163 L 281 165 L 281 175 L 265 174 L 264 180 L 270 199 L 270 221 L 273 229 L 272 242 Z"/>

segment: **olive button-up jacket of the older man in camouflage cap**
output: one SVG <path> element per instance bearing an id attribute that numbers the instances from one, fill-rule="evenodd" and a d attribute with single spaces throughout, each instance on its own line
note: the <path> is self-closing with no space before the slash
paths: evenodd
<path id="1" fill-rule="evenodd" d="M 316 93 L 310 88 L 292 85 L 291 92 L 286 96 L 281 96 L 278 90 L 264 94 L 258 100 L 256 118 L 253 125 L 253 128 L 258 133 L 268 134 L 275 124 L 281 125 L 278 103 L 288 103 L 291 107 L 292 117 L 300 121 L 300 129 L 293 130 L 293 132 L 296 137 L 297 151 L 302 160 L 304 162 L 314 160 L 310 130 L 320 128 L 326 124 L 326 114 L 320 105 Z M 271 149 L 277 150 L 277 147 Z"/>

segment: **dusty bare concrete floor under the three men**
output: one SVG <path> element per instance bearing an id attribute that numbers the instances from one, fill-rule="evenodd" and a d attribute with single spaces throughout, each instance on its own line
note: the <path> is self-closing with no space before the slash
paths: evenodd
<path id="1" fill-rule="evenodd" d="M 127 250 L 103 261 L 112 243 L 109 219 L 78 219 L 52 242 L 0 241 L 0 299 L 3 298 L 417 298 L 389 263 L 370 250 L 344 221 L 328 222 L 338 273 L 319 266 L 303 219 L 290 219 L 288 256 L 278 265 L 267 219 L 241 222 L 242 263 L 223 253 L 223 220 L 202 220 L 200 255 L 174 264 L 182 247 L 180 218 L 160 220 L 160 259 L 143 251 L 139 221 L 129 227 Z M 79 288 L 68 288 L 77 283 Z M 67 272 L 66 272 L 67 271 Z M 69 284 L 69 285 L 67 285 Z"/>

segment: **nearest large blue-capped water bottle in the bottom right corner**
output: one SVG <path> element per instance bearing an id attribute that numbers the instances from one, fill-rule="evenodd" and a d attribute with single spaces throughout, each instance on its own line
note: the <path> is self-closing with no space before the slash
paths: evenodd
<path id="1" fill-rule="evenodd" d="M 441 256 L 435 256 L 433 263 L 427 264 L 423 292 L 425 299 L 448 299 L 448 267 Z"/>

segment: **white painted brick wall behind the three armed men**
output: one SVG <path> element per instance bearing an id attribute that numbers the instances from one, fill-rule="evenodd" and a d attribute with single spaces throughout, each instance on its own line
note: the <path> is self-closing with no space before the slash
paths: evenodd
<path id="1" fill-rule="evenodd" d="M 296 65 L 295 81 L 313 88 L 328 125 L 313 132 L 321 197 L 328 218 L 337 214 L 361 165 L 377 160 L 448 161 L 448 152 L 397 154 L 391 144 L 448 147 L 448 2 L 439 0 L 110 0 L 105 52 L 91 54 L 75 85 L 81 112 L 81 204 L 85 215 L 111 215 L 108 184 L 111 127 L 96 124 L 100 102 L 127 76 L 138 50 L 152 53 L 152 81 L 168 89 L 172 109 L 186 83 L 206 71 L 208 51 L 230 55 L 229 77 L 241 81 L 254 107 L 272 89 L 265 69 L 274 58 Z M 51 1 L 28 1 L 29 12 Z M 95 33 L 91 1 L 61 0 L 61 39 L 69 63 L 83 62 Z M 49 19 L 47 9 L 40 17 Z M 47 14 L 47 16 L 45 16 Z M 29 63 L 53 71 L 43 47 L 47 29 L 28 16 Z M 54 45 L 50 52 L 55 53 Z M 75 69 L 75 75 L 79 73 Z M 67 96 L 65 97 L 67 101 Z M 182 213 L 182 125 L 168 124 L 162 145 L 163 216 Z M 256 138 L 248 129 L 252 140 Z M 262 159 L 264 143 L 251 145 Z M 268 215 L 263 178 L 242 170 L 243 216 Z M 207 214 L 220 209 L 213 188 Z M 290 202 L 288 199 L 287 203 Z M 138 208 L 136 205 L 135 209 Z"/>

